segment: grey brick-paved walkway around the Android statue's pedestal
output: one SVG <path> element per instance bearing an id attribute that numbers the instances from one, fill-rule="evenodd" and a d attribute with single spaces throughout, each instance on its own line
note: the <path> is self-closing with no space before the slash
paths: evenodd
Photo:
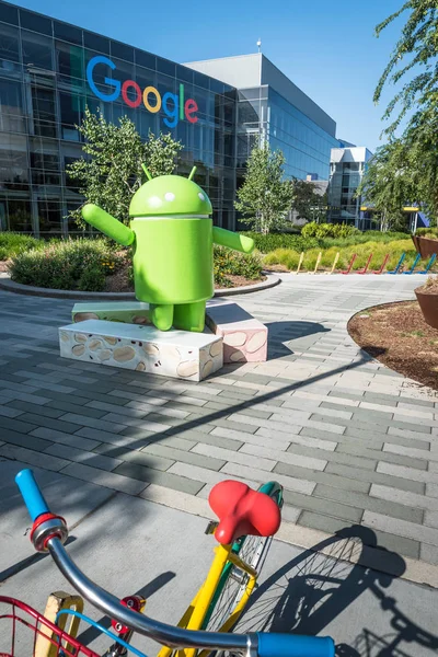
<path id="1" fill-rule="evenodd" d="M 269 360 L 201 383 L 61 360 L 71 301 L 0 292 L 0 457 L 199 515 L 224 477 L 277 479 L 286 529 L 361 523 L 438 564 L 438 397 L 346 332 L 419 280 L 287 275 L 242 296 L 269 325 Z"/>

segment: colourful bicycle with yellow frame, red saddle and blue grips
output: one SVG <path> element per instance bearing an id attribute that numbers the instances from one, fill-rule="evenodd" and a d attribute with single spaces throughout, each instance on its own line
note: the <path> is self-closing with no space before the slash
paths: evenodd
<path id="1" fill-rule="evenodd" d="M 64 548 L 68 538 L 67 523 L 61 516 L 49 511 L 33 472 L 22 470 L 15 482 L 33 521 L 31 541 L 35 550 L 50 553 L 59 570 L 80 593 L 79 600 L 88 600 L 113 619 L 115 633 L 85 616 L 81 604 L 77 604 L 76 610 L 60 609 L 54 623 L 23 602 L 0 597 L 0 602 L 12 607 L 12 612 L 0 615 L 0 621 L 11 619 L 13 624 L 11 650 L 8 654 L 0 653 L 0 657 L 16 657 L 14 633 L 20 624 L 35 635 L 34 657 L 43 654 L 47 657 L 99 657 L 77 641 L 78 622 L 74 623 L 74 636 L 70 630 L 69 633 L 65 631 L 60 622 L 62 615 L 64 620 L 66 615 L 71 615 L 74 621 L 83 619 L 110 635 L 114 643 L 105 657 L 123 657 L 128 649 L 145 657 L 130 645 L 134 632 L 163 646 L 158 657 L 334 657 L 334 643 L 330 637 L 231 633 L 254 590 L 273 535 L 281 521 L 283 488 L 276 482 L 269 482 L 258 491 L 234 481 L 214 486 L 209 503 L 219 520 L 210 522 L 206 533 L 215 534 L 218 541 L 216 555 L 204 585 L 177 626 L 145 615 L 145 600 L 141 597 L 130 596 L 120 601 L 89 579 Z M 22 618 L 18 610 L 33 621 Z M 46 653 L 36 652 L 37 642 L 39 645 L 45 642 Z"/>

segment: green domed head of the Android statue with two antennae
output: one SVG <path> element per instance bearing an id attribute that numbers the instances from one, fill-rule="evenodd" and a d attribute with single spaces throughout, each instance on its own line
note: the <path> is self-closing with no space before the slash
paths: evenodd
<path id="1" fill-rule="evenodd" d="M 207 218 L 211 215 L 210 199 L 192 180 L 195 166 L 188 178 L 181 175 L 160 175 L 152 178 L 145 165 L 143 170 L 148 182 L 132 196 L 129 217 L 141 219 L 166 216 L 170 219 L 173 216 Z"/>

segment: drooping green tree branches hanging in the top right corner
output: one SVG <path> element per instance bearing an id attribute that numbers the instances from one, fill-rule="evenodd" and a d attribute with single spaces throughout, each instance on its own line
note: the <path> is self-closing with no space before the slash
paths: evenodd
<path id="1" fill-rule="evenodd" d="M 402 203 L 422 203 L 434 223 L 438 218 L 438 4 L 405 1 L 376 27 L 377 36 L 405 12 L 407 20 L 374 91 L 378 103 L 387 85 L 403 82 L 383 115 L 392 119 L 384 130 L 390 143 L 379 149 L 365 181 L 366 193 L 377 199 L 390 226 L 400 223 Z"/>

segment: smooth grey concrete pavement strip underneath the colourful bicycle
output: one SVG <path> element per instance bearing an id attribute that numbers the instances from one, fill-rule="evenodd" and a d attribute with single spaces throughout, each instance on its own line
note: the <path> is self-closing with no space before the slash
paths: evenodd
<path id="1" fill-rule="evenodd" d="M 72 591 L 48 556 L 33 556 L 24 535 L 30 521 L 12 484 L 22 466 L 0 462 L 0 592 L 44 611 L 49 592 Z M 72 528 L 68 550 L 78 565 L 117 596 L 145 595 L 146 612 L 153 618 L 177 622 L 212 555 L 215 540 L 204 534 L 206 521 L 95 484 L 78 485 L 66 474 L 36 470 L 36 476 L 49 506 Z M 353 552 L 360 554 L 360 535 L 367 531 L 354 528 L 348 537 L 328 541 L 330 556 L 274 541 L 239 630 L 332 635 L 338 656 L 436 655 L 436 591 L 345 561 Z M 401 573 L 403 560 L 390 556 Z M 107 626 L 89 604 L 85 613 Z M 8 638 L 1 627 L 0 652 Z M 108 647 L 85 627 L 81 641 L 97 652 Z M 140 637 L 134 645 L 150 655 L 158 652 Z"/>

